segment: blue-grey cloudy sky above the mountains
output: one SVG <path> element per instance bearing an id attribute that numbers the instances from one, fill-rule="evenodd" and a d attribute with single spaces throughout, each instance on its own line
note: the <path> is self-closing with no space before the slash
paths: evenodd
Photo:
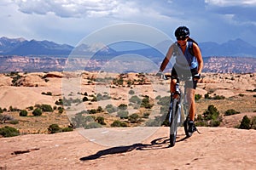
<path id="1" fill-rule="evenodd" d="M 137 23 L 173 38 L 189 26 L 198 42 L 241 38 L 256 46 L 256 0 L 1 0 L 0 37 L 75 46 L 106 26 Z"/>

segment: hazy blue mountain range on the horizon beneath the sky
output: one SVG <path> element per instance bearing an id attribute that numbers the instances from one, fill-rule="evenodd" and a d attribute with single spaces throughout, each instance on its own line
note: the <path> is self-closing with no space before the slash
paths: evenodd
<path id="1" fill-rule="evenodd" d="M 122 43 L 122 42 L 119 42 Z M 171 44 L 171 42 L 169 42 Z M 125 45 L 125 43 L 124 43 Z M 136 44 L 135 44 L 136 45 Z M 122 44 L 119 44 L 122 46 Z M 199 42 L 203 57 L 208 56 L 232 56 L 232 57 L 255 57 L 256 47 L 241 40 L 230 40 L 222 44 L 216 42 Z M 158 47 L 159 48 L 159 47 Z M 147 47 L 129 50 L 117 50 L 111 46 L 102 43 L 88 45 L 81 44 L 79 47 L 73 47 L 68 44 L 58 44 L 47 40 L 28 41 L 24 38 L 0 38 L 0 55 L 18 55 L 18 56 L 49 56 L 49 57 L 68 57 L 75 49 L 76 54 L 94 54 L 94 56 L 105 59 L 121 54 L 138 54 L 150 58 L 163 59 L 165 54 L 161 54 L 156 48 Z"/>

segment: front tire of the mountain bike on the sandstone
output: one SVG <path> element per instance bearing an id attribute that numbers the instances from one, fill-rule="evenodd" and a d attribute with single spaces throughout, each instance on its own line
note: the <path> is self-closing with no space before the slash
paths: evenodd
<path id="1" fill-rule="evenodd" d="M 170 122 L 170 146 L 173 147 L 177 138 L 177 110 L 178 110 L 178 101 L 173 99 L 172 101 L 172 112 L 170 113 L 171 122 Z"/>

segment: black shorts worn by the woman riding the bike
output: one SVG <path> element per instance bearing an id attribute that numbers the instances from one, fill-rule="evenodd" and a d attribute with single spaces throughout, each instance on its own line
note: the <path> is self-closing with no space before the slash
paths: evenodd
<path id="1" fill-rule="evenodd" d="M 189 71 L 174 66 L 172 68 L 172 79 L 182 79 L 185 82 L 186 88 L 195 89 L 198 81 L 193 78 L 191 79 L 191 77 L 194 77 L 197 73 L 197 67 Z"/>

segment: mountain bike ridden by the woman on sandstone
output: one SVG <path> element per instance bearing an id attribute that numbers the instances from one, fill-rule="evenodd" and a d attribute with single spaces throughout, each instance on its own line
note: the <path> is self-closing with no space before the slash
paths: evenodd
<path id="1" fill-rule="evenodd" d="M 165 79 L 169 79 L 171 76 L 165 75 Z M 180 88 L 180 82 L 192 81 L 194 77 L 179 77 L 177 78 L 177 83 L 175 87 L 175 93 L 171 94 L 171 102 L 169 106 L 169 111 L 167 116 L 170 125 L 170 147 L 173 147 L 177 138 L 177 127 L 181 125 L 184 117 L 186 117 L 183 122 L 184 131 L 186 133 L 186 138 L 192 136 L 193 133 L 189 132 L 189 105 L 187 101 L 187 89 L 184 86 L 182 90 Z"/>

